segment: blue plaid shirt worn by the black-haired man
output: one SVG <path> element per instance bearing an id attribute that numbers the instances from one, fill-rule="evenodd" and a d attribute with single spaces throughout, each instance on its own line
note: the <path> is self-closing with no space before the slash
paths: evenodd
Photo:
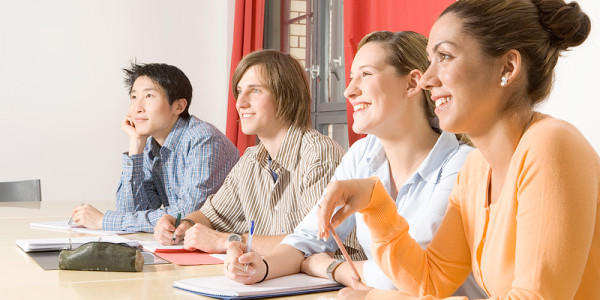
<path id="1" fill-rule="evenodd" d="M 179 118 L 162 147 L 149 137 L 143 154 L 123 154 L 117 210 L 104 214 L 102 229 L 152 232 L 164 214 L 198 210 L 239 157 L 210 123 Z"/>

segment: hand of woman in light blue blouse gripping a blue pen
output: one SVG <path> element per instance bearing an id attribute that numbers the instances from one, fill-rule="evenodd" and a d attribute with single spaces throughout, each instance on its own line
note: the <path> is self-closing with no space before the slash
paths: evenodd
<path id="1" fill-rule="evenodd" d="M 227 278 L 239 283 L 254 284 L 265 277 L 267 268 L 258 253 L 244 253 L 245 249 L 246 246 L 240 242 L 229 243 L 225 256 L 224 273 Z"/>

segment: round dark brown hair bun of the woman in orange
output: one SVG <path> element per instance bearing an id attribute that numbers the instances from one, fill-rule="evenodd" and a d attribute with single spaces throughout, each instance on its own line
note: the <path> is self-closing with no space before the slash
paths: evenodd
<path id="1" fill-rule="evenodd" d="M 551 34 L 551 44 L 561 50 L 583 43 L 591 29 L 590 18 L 577 2 L 532 0 L 538 8 L 540 23 Z"/>

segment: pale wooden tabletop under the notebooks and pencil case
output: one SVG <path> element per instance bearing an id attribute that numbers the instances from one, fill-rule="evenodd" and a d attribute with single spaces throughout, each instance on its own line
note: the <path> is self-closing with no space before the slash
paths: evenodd
<path id="1" fill-rule="evenodd" d="M 17 239 L 61 238 L 68 232 L 30 228 L 31 222 L 64 220 L 77 202 L 0 203 L 0 298 L 3 299 L 212 299 L 173 287 L 185 278 L 222 275 L 223 265 L 145 265 L 142 272 L 44 271 L 16 246 Z M 114 208 L 112 202 L 90 203 L 100 211 Z M 84 236 L 73 233 L 72 236 Z M 152 240 L 149 233 L 124 235 Z M 285 299 L 335 298 L 337 292 L 307 294 Z"/>

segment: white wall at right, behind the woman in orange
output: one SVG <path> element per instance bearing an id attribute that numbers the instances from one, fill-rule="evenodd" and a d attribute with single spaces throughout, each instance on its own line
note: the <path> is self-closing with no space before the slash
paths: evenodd
<path id="1" fill-rule="evenodd" d="M 538 110 L 575 125 L 600 153 L 600 2 L 577 2 L 592 20 L 590 36 L 559 58 L 553 91 Z"/>

